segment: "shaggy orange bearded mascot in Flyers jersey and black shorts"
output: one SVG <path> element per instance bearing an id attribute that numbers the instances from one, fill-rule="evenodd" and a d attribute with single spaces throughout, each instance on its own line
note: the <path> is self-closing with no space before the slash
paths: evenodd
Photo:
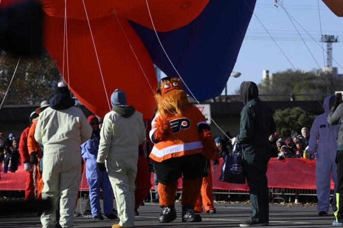
<path id="1" fill-rule="evenodd" d="M 188 102 L 179 78 L 161 79 L 157 93 L 157 112 L 149 133 L 154 143 L 150 158 L 158 176 L 160 205 L 164 209 L 159 222 L 176 219 L 175 193 L 182 178 L 182 222 L 199 222 L 194 213 L 202 178 L 207 176 L 206 159 L 215 156 L 210 127 L 201 111 Z"/>

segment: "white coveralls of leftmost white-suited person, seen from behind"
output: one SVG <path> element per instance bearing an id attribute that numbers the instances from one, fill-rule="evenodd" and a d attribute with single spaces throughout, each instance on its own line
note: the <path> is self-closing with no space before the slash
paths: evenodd
<path id="1" fill-rule="evenodd" d="M 52 207 L 41 216 L 43 227 L 55 227 L 59 203 L 59 224 L 73 227 L 75 201 L 81 179 L 81 147 L 91 136 L 92 128 L 81 109 L 69 107 L 40 113 L 35 138 L 44 145 L 42 199 Z"/>

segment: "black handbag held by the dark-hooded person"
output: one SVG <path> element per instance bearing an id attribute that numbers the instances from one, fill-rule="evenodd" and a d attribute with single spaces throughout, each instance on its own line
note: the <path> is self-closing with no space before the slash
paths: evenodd
<path id="1" fill-rule="evenodd" d="M 241 147 L 236 142 L 233 145 L 232 153 L 226 155 L 224 158 L 219 180 L 228 183 L 245 184 Z"/>

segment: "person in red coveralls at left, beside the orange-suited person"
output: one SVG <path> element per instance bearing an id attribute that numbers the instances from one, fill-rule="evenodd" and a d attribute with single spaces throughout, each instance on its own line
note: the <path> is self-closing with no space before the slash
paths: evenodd
<path id="1" fill-rule="evenodd" d="M 32 173 L 32 166 L 30 163 L 30 155 L 28 153 L 27 148 L 27 137 L 28 132 L 30 130 L 30 127 L 33 123 L 33 121 L 38 118 L 38 114 L 33 111 L 30 114 L 29 117 L 29 126 L 23 130 L 23 132 L 20 135 L 20 141 L 19 141 L 19 153 L 21 157 L 21 161 L 24 164 L 24 170 L 25 170 L 25 201 L 28 200 L 34 200 L 35 199 L 35 186 L 34 186 L 34 178 Z"/>

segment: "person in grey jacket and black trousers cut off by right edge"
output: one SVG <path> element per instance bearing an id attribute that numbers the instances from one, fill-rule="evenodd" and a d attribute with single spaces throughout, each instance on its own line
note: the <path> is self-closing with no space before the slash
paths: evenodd
<path id="1" fill-rule="evenodd" d="M 336 98 L 335 104 L 332 106 L 327 121 L 333 126 L 339 126 L 338 133 L 338 145 L 337 145 L 337 155 L 335 162 L 337 164 L 337 210 L 334 212 L 335 220 L 332 222 L 332 225 L 342 225 L 343 224 L 343 105 L 341 104 L 341 94 Z M 310 133 L 310 138 L 312 137 Z M 319 153 L 320 154 L 320 153 Z"/>

